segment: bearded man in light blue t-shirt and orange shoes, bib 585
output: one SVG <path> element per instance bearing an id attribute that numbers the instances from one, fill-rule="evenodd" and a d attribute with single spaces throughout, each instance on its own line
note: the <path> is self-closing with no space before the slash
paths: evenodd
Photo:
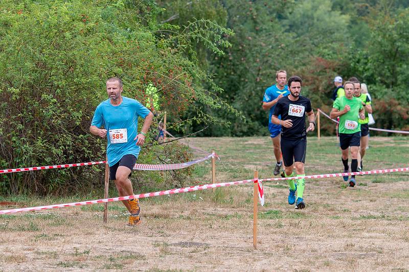
<path id="1" fill-rule="evenodd" d="M 122 96 L 122 91 L 121 79 L 108 79 L 106 92 L 109 98 L 98 105 L 89 131 L 101 138 L 107 137 L 109 179 L 115 182 L 119 196 L 127 196 L 134 194 L 129 177 L 145 142 L 153 114 L 138 101 Z M 145 119 L 140 133 L 138 117 Z M 139 200 L 122 202 L 131 214 L 128 226 L 139 225 Z"/>

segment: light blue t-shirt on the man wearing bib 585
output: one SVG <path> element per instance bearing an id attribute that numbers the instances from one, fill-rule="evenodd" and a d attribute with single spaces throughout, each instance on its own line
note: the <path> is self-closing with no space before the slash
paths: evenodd
<path id="1" fill-rule="evenodd" d="M 125 96 L 122 96 L 122 103 L 119 106 L 113 106 L 109 99 L 98 105 L 91 126 L 97 128 L 104 126 L 104 129 L 108 131 L 106 134 L 108 138 L 106 154 L 109 166 L 116 164 L 128 154 L 138 158 L 141 147 L 136 144 L 136 140 L 133 140 L 138 135 L 138 117 L 145 118 L 149 112 L 141 103 Z M 128 141 L 111 143 L 109 130 L 113 129 L 126 129 Z"/>

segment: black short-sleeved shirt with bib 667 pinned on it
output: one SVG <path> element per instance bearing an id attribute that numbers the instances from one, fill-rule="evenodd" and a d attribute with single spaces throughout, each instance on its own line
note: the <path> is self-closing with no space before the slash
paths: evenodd
<path id="1" fill-rule="evenodd" d="M 311 102 L 307 97 L 300 95 L 297 101 L 291 101 L 288 95 L 281 98 L 274 110 L 274 115 L 281 114 L 281 120 L 292 121 L 291 128 L 281 126 L 281 137 L 286 139 L 299 139 L 307 135 L 305 127 L 305 114 L 312 111 Z"/>

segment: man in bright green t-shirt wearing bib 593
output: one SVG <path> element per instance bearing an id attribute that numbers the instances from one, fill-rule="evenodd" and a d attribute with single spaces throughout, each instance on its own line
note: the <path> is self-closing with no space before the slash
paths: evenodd
<path id="1" fill-rule="evenodd" d="M 356 172 L 358 167 L 358 150 L 360 144 L 360 124 L 359 118 L 365 118 L 365 109 L 359 98 L 354 97 L 355 87 L 350 81 L 344 84 L 345 96 L 338 97 L 334 101 L 330 113 L 331 118 L 339 117 L 339 143 L 342 151 L 342 162 L 345 172 L 348 172 L 348 147 L 351 147 L 351 170 Z M 344 181 L 348 181 L 348 176 L 344 176 Z M 351 176 L 349 185 L 354 187 L 355 175 Z"/>

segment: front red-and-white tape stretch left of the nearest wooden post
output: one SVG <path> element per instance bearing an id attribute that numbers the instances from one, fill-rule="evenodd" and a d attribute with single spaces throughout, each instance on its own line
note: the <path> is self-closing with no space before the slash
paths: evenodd
<path id="1" fill-rule="evenodd" d="M 210 188 L 218 188 L 218 187 L 225 187 L 225 186 L 230 186 L 230 185 L 244 184 L 244 183 L 249 183 L 249 182 L 254 182 L 254 180 L 242 180 L 242 181 L 234 181 L 234 182 L 197 185 L 197 186 L 185 187 L 185 188 L 180 188 L 180 189 L 157 191 L 157 192 L 152 192 L 152 193 L 142 193 L 142 194 L 135 194 L 135 195 L 128 195 L 128 196 L 112 197 L 110 199 L 90 200 L 90 201 L 73 202 L 73 203 L 67 203 L 67 204 L 55 204 L 55 205 L 39 206 L 39 207 L 31 207 L 31 208 L 0 210 L 0 214 L 41 211 L 41 210 L 48 210 L 48 209 L 74 207 L 74 206 L 98 204 L 98 203 L 105 203 L 105 202 L 116 202 L 116 201 L 130 200 L 134 198 L 143 199 L 144 197 L 152 197 L 152 196 L 175 194 L 175 193 L 186 193 L 186 192 L 193 192 L 193 191 L 210 189 Z"/>

